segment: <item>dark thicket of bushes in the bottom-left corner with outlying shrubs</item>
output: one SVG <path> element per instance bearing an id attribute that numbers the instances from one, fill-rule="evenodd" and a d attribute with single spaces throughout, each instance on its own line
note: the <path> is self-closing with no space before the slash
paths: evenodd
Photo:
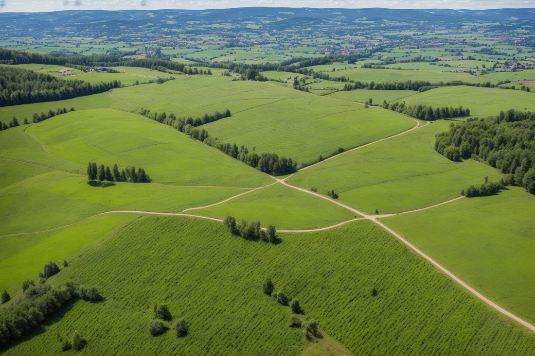
<path id="1" fill-rule="evenodd" d="M 45 265 L 44 273 L 41 275 L 50 276 L 50 273 L 53 275 L 57 272 L 59 272 L 59 267 L 55 262 L 49 262 Z M 55 288 L 46 284 L 46 278 L 41 277 L 41 282 L 37 285 L 31 280 L 24 281 L 22 295 L 0 309 L 0 347 L 13 344 L 29 335 L 72 298 L 91 302 L 102 300 L 102 296 L 94 287 L 86 288 L 75 282 L 66 282 Z M 10 299 L 9 294 L 4 290 L 2 304 L 7 303 Z M 77 339 L 75 338 L 73 341 L 72 344 L 64 342 L 63 348 L 68 350 L 74 347 L 76 349 L 78 347 Z"/>

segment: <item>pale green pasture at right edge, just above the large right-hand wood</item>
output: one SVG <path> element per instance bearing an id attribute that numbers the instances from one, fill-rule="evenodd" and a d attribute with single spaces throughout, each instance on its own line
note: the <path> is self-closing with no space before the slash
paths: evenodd
<path id="1" fill-rule="evenodd" d="M 470 109 L 471 117 L 498 115 L 500 111 L 515 109 L 535 110 L 535 92 L 507 90 L 498 88 L 479 88 L 467 86 L 441 87 L 427 90 L 401 101 L 407 105 L 430 105 L 434 107 L 462 105 Z"/>

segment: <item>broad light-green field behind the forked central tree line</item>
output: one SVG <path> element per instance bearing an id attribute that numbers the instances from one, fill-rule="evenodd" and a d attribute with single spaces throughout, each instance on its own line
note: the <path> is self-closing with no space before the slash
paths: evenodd
<path id="1" fill-rule="evenodd" d="M 292 157 L 299 164 L 309 164 L 319 154 L 328 156 L 339 146 L 353 148 L 414 126 L 414 121 L 396 113 L 225 77 L 188 77 L 112 93 L 137 107 L 177 116 L 196 117 L 228 108 L 232 117 L 202 128 L 224 142 L 243 144 L 249 150 L 256 146 L 257 152 Z"/>

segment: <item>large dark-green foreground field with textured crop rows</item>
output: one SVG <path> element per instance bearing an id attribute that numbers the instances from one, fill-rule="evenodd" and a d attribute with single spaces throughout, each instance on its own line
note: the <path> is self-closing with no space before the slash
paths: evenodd
<path id="1" fill-rule="evenodd" d="M 246 241 L 194 218 L 138 220 L 49 280 L 95 286 L 104 301 L 75 301 L 5 354 L 59 350 L 58 333 L 78 330 L 88 340 L 80 354 L 298 355 L 304 336 L 288 327 L 289 307 L 263 294 L 268 276 L 353 354 L 535 352 L 532 332 L 370 221 L 280 237 Z M 150 336 L 155 303 L 187 320 L 188 335 Z"/>

